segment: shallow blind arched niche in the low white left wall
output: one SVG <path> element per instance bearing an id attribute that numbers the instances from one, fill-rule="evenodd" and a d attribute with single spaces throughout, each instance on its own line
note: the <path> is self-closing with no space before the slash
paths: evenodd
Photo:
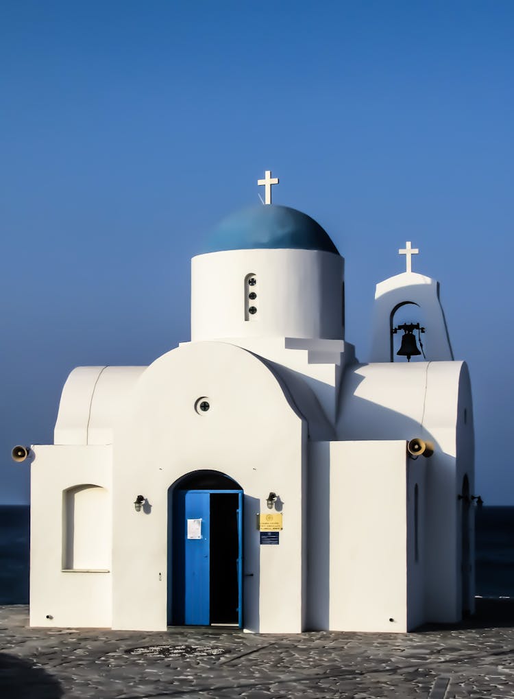
<path id="1" fill-rule="evenodd" d="M 110 501 L 105 488 L 83 484 L 63 492 L 62 570 L 108 572 Z"/>

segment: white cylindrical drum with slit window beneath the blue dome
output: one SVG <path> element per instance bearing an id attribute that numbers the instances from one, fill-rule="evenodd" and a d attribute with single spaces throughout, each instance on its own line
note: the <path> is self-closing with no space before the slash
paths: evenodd
<path id="1" fill-rule="evenodd" d="M 247 289 L 249 273 L 257 284 Z M 191 260 L 191 340 L 343 339 L 344 259 L 318 250 L 230 250 Z M 254 316 L 245 320 L 248 291 Z"/>

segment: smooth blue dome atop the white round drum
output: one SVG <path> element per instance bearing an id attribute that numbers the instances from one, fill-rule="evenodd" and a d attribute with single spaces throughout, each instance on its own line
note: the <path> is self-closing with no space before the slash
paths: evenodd
<path id="1" fill-rule="evenodd" d="M 324 250 L 339 254 L 330 236 L 307 214 L 288 206 L 252 206 L 223 219 L 203 252 L 221 250 Z"/>

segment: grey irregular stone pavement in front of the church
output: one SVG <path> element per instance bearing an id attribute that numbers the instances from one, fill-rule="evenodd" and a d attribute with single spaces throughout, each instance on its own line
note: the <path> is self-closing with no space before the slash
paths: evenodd
<path id="1" fill-rule="evenodd" d="M 0 607 L 0 698 L 514 698 L 513 607 L 492 611 L 409 634 L 253 635 L 38 629 Z"/>

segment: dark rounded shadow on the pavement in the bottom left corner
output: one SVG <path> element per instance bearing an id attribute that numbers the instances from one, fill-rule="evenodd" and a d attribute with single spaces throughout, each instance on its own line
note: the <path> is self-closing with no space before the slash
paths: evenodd
<path id="1" fill-rule="evenodd" d="M 60 699 L 61 682 L 24 658 L 0 653 L 0 696 L 6 699 Z"/>

